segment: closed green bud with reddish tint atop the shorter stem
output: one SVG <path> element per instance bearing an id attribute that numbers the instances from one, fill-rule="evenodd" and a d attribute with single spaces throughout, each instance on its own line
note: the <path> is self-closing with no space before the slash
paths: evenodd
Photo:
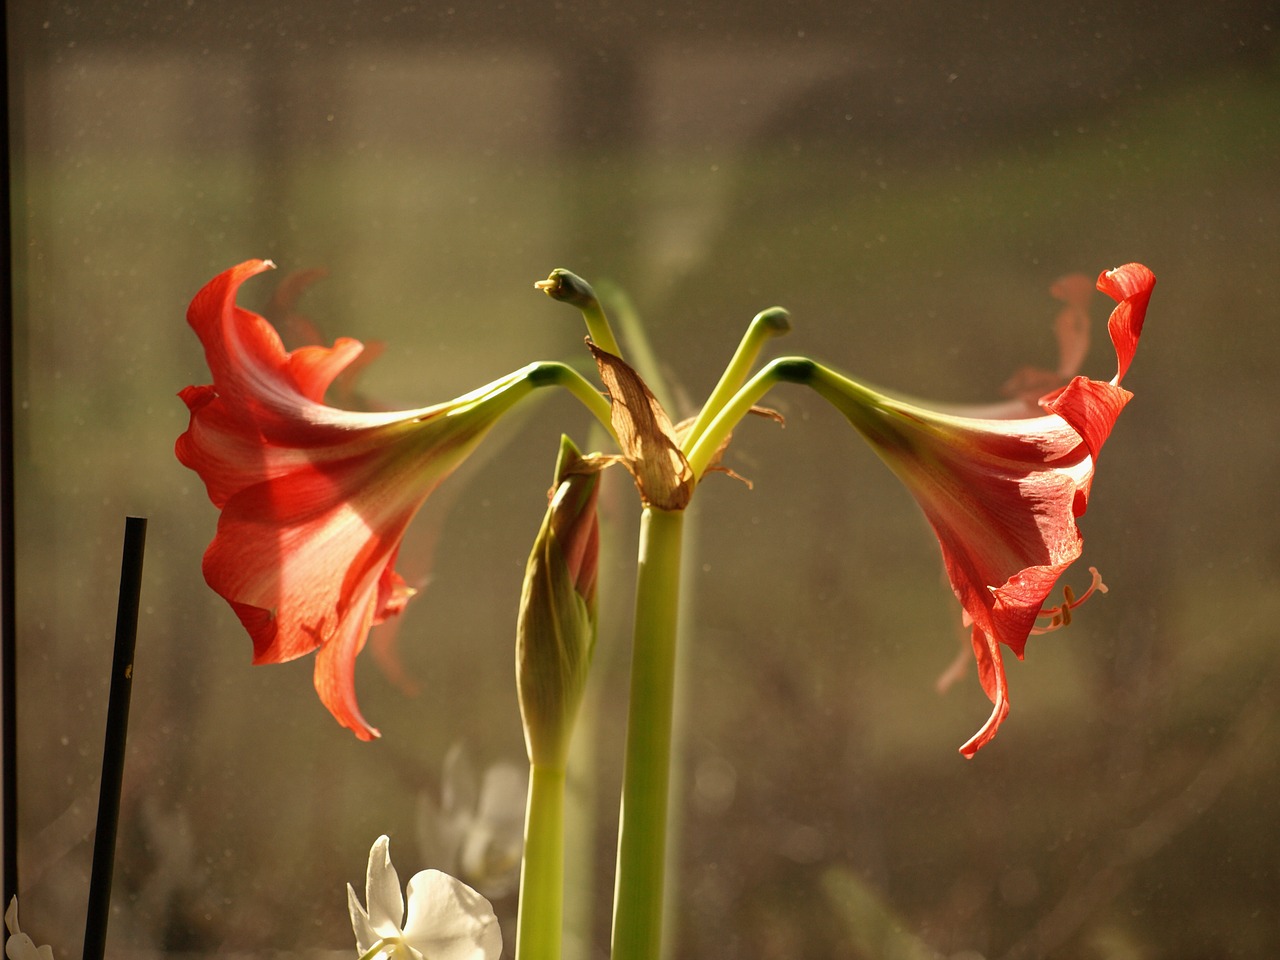
<path id="1" fill-rule="evenodd" d="M 516 687 L 530 763 L 563 769 L 595 649 L 600 466 L 561 438 L 556 481 L 525 570 Z"/>

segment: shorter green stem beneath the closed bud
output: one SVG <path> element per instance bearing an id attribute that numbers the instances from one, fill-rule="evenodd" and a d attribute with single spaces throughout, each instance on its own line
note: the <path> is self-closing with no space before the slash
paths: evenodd
<path id="1" fill-rule="evenodd" d="M 559 960 L 564 913 L 564 768 L 529 768 L 516 960 Z"/>

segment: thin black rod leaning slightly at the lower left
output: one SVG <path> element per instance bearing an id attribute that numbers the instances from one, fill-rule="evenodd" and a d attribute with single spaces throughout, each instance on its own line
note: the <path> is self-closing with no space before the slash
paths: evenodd
<path id="1" fill-rule="evenodd" d="M 124 557 L 120 561 L 120 599 L 115 609 L 115 653 L 111 655 L 111 690 L 106 701 L 106 739 L 102 745 L 102 783 L 97 797 L 97 832 L 93 835 L 93 868 L 88 879 L 84 960 L 102 960 L 106 952 L 106 922 L 111 910 L 115 832 L 120 824 L 124 740 L 129 727 L 133 650 L 138 639 L 138 598 L 142 593 L 142 550 L 146 540 L 146 518 L 128 517 L 124 521 Z"/>

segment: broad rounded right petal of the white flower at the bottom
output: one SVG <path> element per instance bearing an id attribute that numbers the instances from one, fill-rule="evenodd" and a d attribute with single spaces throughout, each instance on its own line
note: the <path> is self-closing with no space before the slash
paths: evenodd
<path id="1" fill-rule="evenodd" d="M 408 882 L 404 940 L 431 960 L 498 960 L 502 954 L 502 929 L 489 901 L 439 870 L 422 870 Z"/>

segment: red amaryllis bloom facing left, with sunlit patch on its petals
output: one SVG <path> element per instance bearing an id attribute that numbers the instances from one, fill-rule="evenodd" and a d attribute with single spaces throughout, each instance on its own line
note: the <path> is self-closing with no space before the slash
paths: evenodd
<path id="1" fill-rule="evenodd" d="M 287 352 L 275 329 L 236 306 L 250 260 L 214 278 L 187 320 L 214 383 L 179 394 L 191 425 L 178 460 L 200 474 L 221 509 L 205 553 L 209 585 L 253 640 L 255 663 L 319 649 L 320 700 L 361 740 L 356 654 L 369 630 L 403 609 L 412 590 L 396 553 L 413 513 L 495 422 L 540 380 L 536 365 L 449 403 L 358 413 L 324 403 L 360 356 L 358 340 Z"/>

